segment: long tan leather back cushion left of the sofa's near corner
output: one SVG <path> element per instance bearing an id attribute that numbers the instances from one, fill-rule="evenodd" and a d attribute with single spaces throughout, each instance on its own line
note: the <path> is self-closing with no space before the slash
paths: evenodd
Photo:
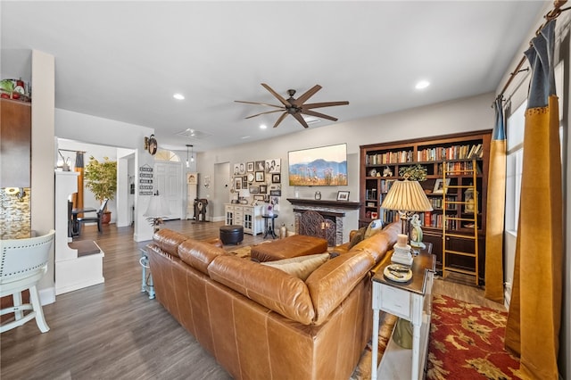
<path id="1" fill-rule="evenodd" d="M 303 325 L 315 316 L 305 283 L 277 268 L 232 255 L 219 256 L 208 266 L 211 279 Z"/>

